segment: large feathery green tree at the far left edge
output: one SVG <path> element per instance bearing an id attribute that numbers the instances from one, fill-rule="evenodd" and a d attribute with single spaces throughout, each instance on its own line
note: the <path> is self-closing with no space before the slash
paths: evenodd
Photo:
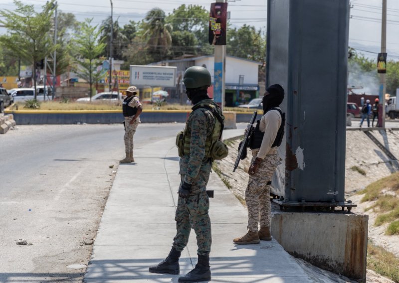
<path id="1" fill-rule="evenodd" d="M 36 63 L 57 48 L 50 36 L 54 0 L 43 5 L 40 12 L 36 12 L 33 5 L 23 4 L 19 0 L 14 0 L 14 4 L 14 11 L 0 10 L 0 23 L 7 29 L 7 33 L 0 36 L 0 45 L 15 58 L 33 65 L 33 82 L 36 88 Z"/>

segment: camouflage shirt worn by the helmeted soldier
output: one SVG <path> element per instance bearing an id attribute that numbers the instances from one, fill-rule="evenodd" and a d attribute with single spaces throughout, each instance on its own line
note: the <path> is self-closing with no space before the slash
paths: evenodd
<path id="1" fill-rule="evenodd" d="M 213 103 L 213 100 L 202 100 L 203 102 Z M 219 108 L 217 108 L 221 114 Z M 205 158 L 205 141 L 212 135 L 215 119 L 212 113 L 204 108 L 194 110 L 186 122 L 186 131 L 191 133 L 190 155 L 184 155 L 180 158 L 180 174 L 184 174 L 184 181 L 192 184 L 193 191 L 205 190 L 209 179 L 209 173 L 212 169 L 212 161 Z"/>

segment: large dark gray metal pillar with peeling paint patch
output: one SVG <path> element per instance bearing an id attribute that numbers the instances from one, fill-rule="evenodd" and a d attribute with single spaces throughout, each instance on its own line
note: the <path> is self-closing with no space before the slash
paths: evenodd
<path id="1" fill-rule="evenodd" d="M 266 84 L 286 96 L 285 202 L 344 202 L 349 0 L 268 0 Z"/>

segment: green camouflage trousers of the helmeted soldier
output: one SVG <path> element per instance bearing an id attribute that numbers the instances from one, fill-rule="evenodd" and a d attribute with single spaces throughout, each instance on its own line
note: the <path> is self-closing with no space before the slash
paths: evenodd
<path id="1" fill-rule="evenodd" d="M 184 174 L 182 176 L 182 182 Z M 179 197 L 176 209 L 176 236 L 173 239 L 173 247 L 183 251 L 189 242 L 191 229 L 197 235 L 197 254 L 208 256 L 212 244 L 209 219 L 209 198 L 206 191 L 190 195 L 187 199 Z"/>

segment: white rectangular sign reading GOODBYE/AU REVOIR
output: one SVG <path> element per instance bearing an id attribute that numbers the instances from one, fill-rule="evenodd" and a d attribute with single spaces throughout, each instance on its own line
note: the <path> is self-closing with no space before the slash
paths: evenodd
<path id="1" fill-rule="evenodd" d="M 176 87 L 176 69 L 171 66 L 130 65 L 130 85 Z"/>

